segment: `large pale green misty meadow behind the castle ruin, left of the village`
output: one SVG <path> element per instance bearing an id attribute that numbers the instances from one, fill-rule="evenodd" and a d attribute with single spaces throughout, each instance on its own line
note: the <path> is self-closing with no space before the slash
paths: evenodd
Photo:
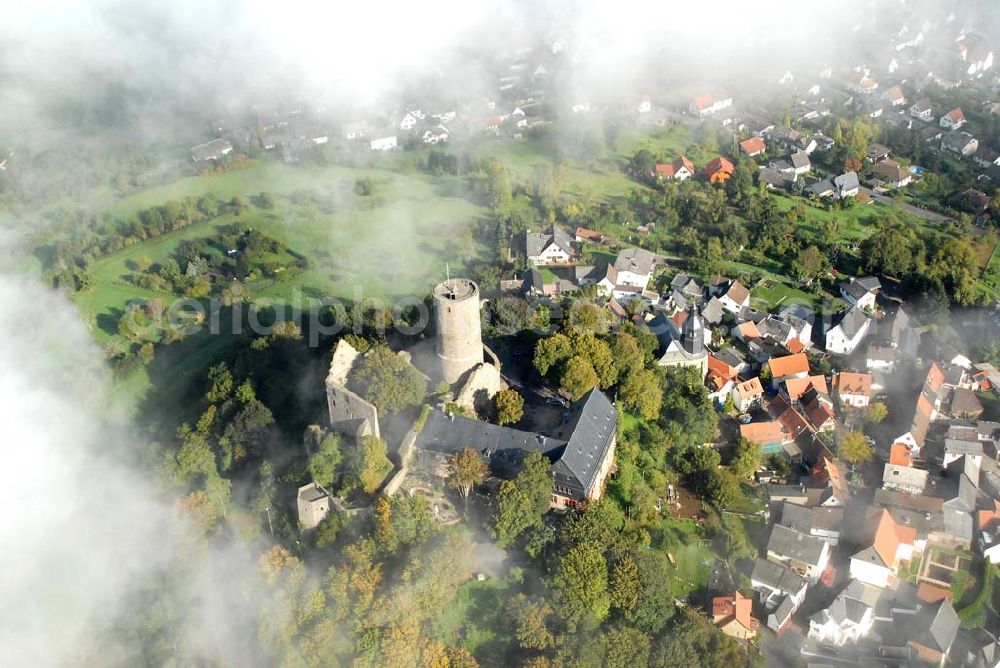
<path id="1" fill-rule="evenodd" d="M 446 273 L 462 270 L 464 252 L 481 252 L 474 244 L 460 248 L 458 232 L 484 211 L 459 197 L 438 194 L 429 179 L 373 170 L 295 170 L 259 167 L 184 179 L 164 188 L 125 198 L 109 209 L 116 217 L 153 204 L 191 195 L 211 194 L 219 199 L 241 194 L 248 198 L 267 188 L 279 196 L 274 209 L 251 206 L 237 216 L 227 214 L 150 239 L 96 261 L 92 268 L 94 287 L 76 296 L 88 322 L 97 325 L 98 341 L 115 335 L 117 314 L 132 299 L 174 295 L 155 293 L 127 280 L 140 258 L 162 262 L 185 239 L 212 237 L 219 228 L 242 222 L 265 232 L 302 253 L 309 268 L 288 275 L 256 281 L 248 286 L 253 298 L 287 299 L 293 289 L 306 297 L 363 297 L 391 299 L 407 294 L 423 296 Z M 270 175 L 274 175 L 271 181 Z M 371 175 L 375 177 L 371 177 Z M 324 176 L 325 175 L 325 176 Z M 375 199 L 344 196 L 344 179 L 369 175 L 376 183 Z M 340 186 L 338 188 L 338 180 Z M 312 187 L 313 196 L 300 195 Z M 291 195 L 289 192 L 291 191 Z M 333 197 L 330 213 L 317 199 Z M 340 198 L 344 204 L 339 203 Z M 252 201 L 252 200 L 251 200 Z"/>

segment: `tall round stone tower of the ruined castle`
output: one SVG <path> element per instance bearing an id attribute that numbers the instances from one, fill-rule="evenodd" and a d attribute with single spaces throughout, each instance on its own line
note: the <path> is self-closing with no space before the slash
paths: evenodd
<path id="1" fill-rule="evenodd" d="M 483 361 L 479 286 L 467 278 L 450 278 L 434 286 L 434 322 L 441 377 L 454 383 Z"/>

